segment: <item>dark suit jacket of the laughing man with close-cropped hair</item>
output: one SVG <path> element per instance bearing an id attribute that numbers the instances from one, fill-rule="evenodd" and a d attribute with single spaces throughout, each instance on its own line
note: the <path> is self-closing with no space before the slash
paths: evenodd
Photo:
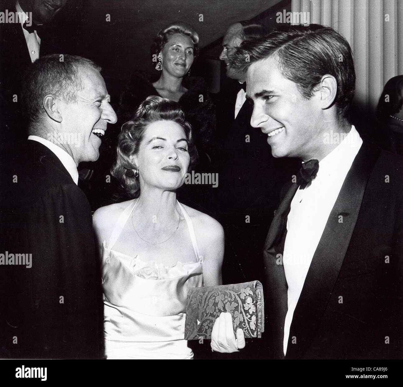
<path id="1" fill-rule="evenodd" d="M 89 203 L 52 151 L 33 140 L 25 146 L 5 179 L 0 250 L 32 254 L 32 267 L 0 267 L 2 356 L 100 358 L 102 291 Z"/>

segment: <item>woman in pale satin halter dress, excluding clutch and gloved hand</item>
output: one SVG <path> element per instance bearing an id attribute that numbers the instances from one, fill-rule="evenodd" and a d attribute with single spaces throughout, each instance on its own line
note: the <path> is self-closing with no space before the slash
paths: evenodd
<path id="1" fill-rule="evenodd" d="M 196 155 L 176 102 L 148 97 L 122 127 L 112 174 L 133 199 L 93 215 L 107 358 L 193 357 L 187 293 L 221 284 L 224 254 L 221 225 L 176 199 Z"/>

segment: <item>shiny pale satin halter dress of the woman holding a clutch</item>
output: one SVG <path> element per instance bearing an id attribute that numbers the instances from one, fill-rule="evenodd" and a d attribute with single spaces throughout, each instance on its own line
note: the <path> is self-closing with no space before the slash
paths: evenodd
<path id="1" fill-rule="evenodd" d="M 203 286 L 193 225 L 185 217 L 197 262 L 164 266 L 113 250 L 137 200 L 129 203 L 102 244 L 104 334 L 107 358 L 192 358 L 184 339 L 190 288 Z M 189 260 L 192 259 L 189 257 Z M 193 258 L 194 259 L 194 258 Z"/>

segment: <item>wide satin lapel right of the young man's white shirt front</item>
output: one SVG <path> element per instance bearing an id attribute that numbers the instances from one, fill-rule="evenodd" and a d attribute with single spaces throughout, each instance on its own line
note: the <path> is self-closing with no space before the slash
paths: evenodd
<path id="1" fill-rule="evenodd" d="M 341 187 L 312 258 L 291 323 L 286 358 L 301 358 L 328 304 L 350 243 L 368 178 L 379 150 L 364 143 Z M 292 344 L 292 337 L 296 343 Z"/>

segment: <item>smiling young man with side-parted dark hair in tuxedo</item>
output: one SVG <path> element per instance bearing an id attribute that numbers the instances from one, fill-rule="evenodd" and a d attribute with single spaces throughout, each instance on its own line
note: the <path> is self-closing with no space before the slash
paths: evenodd
<path id="1" fill-rule="evenodd" d="M 270 357 L 403 358 L 403 161 L 349 121 L 349 44 L 330 27 L 284 27 L 232 65 L 247 70 L 251 125 L 273 156 L 303 161 L 264 248 Z"/>

